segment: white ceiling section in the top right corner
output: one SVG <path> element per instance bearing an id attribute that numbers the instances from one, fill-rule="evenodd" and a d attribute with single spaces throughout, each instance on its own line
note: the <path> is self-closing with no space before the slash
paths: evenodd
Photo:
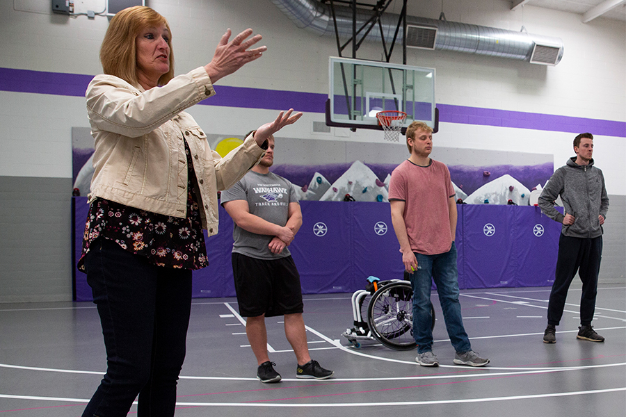
<path id="1" fill-rule="evenodd" d="M 513 0 L 511 8 L 522 5 L 577 13 L 583 22 L 597 17 L 626 22 L 626 0 Z"/>

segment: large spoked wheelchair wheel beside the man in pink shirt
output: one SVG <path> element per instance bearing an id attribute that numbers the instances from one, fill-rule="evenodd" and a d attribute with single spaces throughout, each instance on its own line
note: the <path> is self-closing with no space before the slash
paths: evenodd
<path id="1" fill-rule="evenodd" d="M 387 284 L 372 295 L 367 308 L 371 334 L 386 347 L 410 350 L 417 344 L 413 338 L 413 291 L 408 282 Z"/>

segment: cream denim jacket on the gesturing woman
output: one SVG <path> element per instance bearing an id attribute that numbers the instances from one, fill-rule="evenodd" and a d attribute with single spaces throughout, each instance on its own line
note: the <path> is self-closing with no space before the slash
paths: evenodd
<path id="1" fill-rule="evenodd" d="M 264 154 L 250 135 L 221 158 L 207 136 L 183 110 L 215 95 L 203 67 L 144 90 L 111 75 L 98 75 L 86 92 L 95 138 L 91 193 L 145 211 L 186 216 L 186 140 L 198 179 L 202 227 L 218 231 L 218 190 L 239 181 Z M 184 139 L 184 140 L 183 140 Z"/>

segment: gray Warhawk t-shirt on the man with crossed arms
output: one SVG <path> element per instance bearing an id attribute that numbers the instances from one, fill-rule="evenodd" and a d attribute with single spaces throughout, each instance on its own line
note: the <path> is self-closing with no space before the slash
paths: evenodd
<path id="1" fill-rule="evenodd" d="M 298 197 L 294 186 L 272 172 L 259 174 L 250 171 L 228 190 L 222 191 L 221 204 L 233 200 L 246 200 L 250 214 L 268 222 L 284 226 L 289 219 L 289 203 L 297 203 Z M 269 250 L 269 243 L 274 238 L 270 235 L 250 233 L 234 224 L 232 230 L 232 252 L 257 259 L 279 259 L 290 255 L 285 247 L 280 254 Z"/>

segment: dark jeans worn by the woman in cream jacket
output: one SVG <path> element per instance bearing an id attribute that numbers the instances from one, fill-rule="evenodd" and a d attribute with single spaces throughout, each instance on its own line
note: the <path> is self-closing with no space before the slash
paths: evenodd
<path id="1" fill-rule="evenodd" d="M 191 311 L 191 270 L 163 268 L 95 240 L 85 259 L 97 305 L 106 375 L 83 417 L 173 416 Z"/>

